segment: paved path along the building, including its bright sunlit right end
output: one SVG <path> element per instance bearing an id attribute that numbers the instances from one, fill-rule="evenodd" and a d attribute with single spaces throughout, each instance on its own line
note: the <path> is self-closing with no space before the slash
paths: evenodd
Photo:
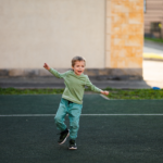
<path id="1" fill-rule="evenodd" d="M 143 61 L 143 80 L 96 80 L 92 84 L 100 88 L 163 88 L 163 62 Z M 0 78 L 0 87 L 9 88 L 64 88 L 62 79 L 51 77 L 33 77 L 33 78 Z"/>

